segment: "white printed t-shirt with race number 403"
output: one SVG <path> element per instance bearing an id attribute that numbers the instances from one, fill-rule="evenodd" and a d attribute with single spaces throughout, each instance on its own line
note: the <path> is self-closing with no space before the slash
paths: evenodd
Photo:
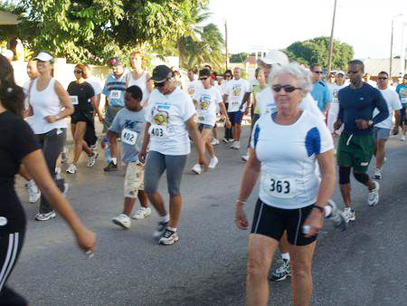
<path id="1" fill-rule="evenodd" d="M 165 155 L 186 155 L 191 152 L 185 121 L 196 113 L 191 97 L 180 88 L 170 94 L 151 92 L 146 121 L 151 124 L 150 150 Z"/>

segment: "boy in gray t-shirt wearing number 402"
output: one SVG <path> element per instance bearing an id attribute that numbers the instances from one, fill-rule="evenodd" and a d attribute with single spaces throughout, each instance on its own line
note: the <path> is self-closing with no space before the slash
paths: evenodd
<path id="1" fill-rule="evenodd" d="M 128 164 L 124 182 L 123 213 L 112 219 L 115 225 L 124 229 L 128 229 L 131 225 L 130 214 L 137 197 L 141 206 L 133 218 L 143 219 L 151 214 L 151 208 L 148 207 L 147 196 L 144 192 L 144 164 L 138 160 L 138 152 L 141 149 L 146 126 L 145 110 L 140 104 L 142 99 L 143 92 L 138 86 L 128 87 L 125 91 L 126 108 L 118 111 L 108 132 L 109 139 L 116 140 L 120 137 L 122 161 Z"/>

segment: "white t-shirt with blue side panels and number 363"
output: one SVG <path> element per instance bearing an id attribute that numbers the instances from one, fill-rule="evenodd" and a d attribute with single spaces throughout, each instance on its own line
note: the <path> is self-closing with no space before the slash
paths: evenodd
<path id="1" fill-rule="evenodd" d="M 298 209 L 317 201 L 320 177 L 317 155 L 334 148 L 327 125 L 304 110 L 291 125 L 279 125 L 266 114 L 254 125 L 251 148 L 260 160 L 262 202 L 283 209 Z"/>

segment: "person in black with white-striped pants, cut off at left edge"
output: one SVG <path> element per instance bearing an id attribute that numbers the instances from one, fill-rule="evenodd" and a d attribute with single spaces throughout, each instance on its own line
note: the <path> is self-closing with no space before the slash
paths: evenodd
<path id="1" fill-rule="evenodd" d="M 33 130 L 23 120 L 24 91 L 14 82 L 13 67 L 0 55 L 0 305 L 27 305 L 6 286 L 21 252 L 25 215 L 14 189 L 14 176 L 24 165 L 43 196 L 62 215 L 75 234 L 80 248 L 94 251 L 95 234 L 87 229 L 55 185 Z"/>

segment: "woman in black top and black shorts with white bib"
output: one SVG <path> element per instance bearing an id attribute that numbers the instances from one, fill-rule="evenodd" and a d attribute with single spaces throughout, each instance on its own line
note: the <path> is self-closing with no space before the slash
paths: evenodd
<path id="1" fill-rule="evenodd" d="M 66 172 L 74 174 L 78 169 L 78 160 L 82 150 L 88 155 L 88 167 L 93 167 L 98 157 L 98 152 L 93 152 L 88 144 L 83 140 L 88 123 L 93 121 L 93 111 L 99 116 L 99 120 L 103 121 L 99 113 L 95 91 L 93 87 L 85 81 L 88 77 L 86 67 L 83 64 L 77 64 L 73 71 L 76 81 L 71 81 L 68 86 L 68 93 L 71 96 L 72 104 L 75 111 L 71 115 L 71 132 L 75 142 L 75 150 L 71 165 L 66 169 Z"/>

